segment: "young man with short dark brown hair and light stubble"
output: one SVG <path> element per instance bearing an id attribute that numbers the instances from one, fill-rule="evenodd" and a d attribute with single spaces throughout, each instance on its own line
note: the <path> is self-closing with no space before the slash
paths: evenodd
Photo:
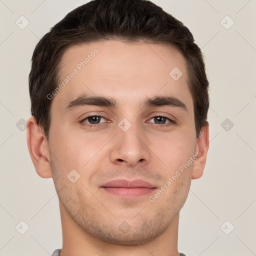
<path id="1" fill-rule="evenodd" d="M 52 177 L 53 255 L 177 256 L 208 150 L 208 81 L 190 31 L 145 0 L 94 0 L 36 45 L 27 144 Z"/>

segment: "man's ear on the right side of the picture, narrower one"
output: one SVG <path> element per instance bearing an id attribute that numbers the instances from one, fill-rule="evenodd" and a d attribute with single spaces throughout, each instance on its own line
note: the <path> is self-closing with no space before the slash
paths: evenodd
<path id="1" fill-rule="evenodd" d="M 206 162 L 206 155 L 209 148 L 209 124 L 206 124 L 201 128 L 200 134 L 196 142 L 196 155 L 197 158 L 193 163 L 192 179 L 201 177 Z"/>

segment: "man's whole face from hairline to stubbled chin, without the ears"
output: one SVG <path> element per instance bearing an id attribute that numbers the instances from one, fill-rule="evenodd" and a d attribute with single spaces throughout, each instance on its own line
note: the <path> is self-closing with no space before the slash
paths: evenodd
<path id="1" fill-rule="evenodd" d="M 183 56 L 107 40 L 61 63 L 48 146 L 62 214 L 105 241 L 152 240 L 182 207 L 198 155 Z"/>

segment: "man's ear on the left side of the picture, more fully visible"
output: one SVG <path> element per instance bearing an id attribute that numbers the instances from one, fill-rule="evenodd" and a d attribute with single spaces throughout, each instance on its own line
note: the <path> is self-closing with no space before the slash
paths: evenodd
<path id="1" fill-rule="evenodd" d="M 37 174 L 43 178 L 52 177 L 48 141 L 34 117 L 27 120 L 26 141 Z"/>

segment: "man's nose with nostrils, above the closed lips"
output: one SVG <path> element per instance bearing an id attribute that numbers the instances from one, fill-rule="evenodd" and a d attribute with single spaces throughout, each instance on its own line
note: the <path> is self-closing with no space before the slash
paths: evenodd
<path id="1" fill-rule="evenodd" d="M 147 164 L 150 150 L 146 141 L 145 132 L 134 124 L 126 131 L 117 127 L 117 134 L 113 138 L 110 152 L 111 162 L 125 167 Z"/>

